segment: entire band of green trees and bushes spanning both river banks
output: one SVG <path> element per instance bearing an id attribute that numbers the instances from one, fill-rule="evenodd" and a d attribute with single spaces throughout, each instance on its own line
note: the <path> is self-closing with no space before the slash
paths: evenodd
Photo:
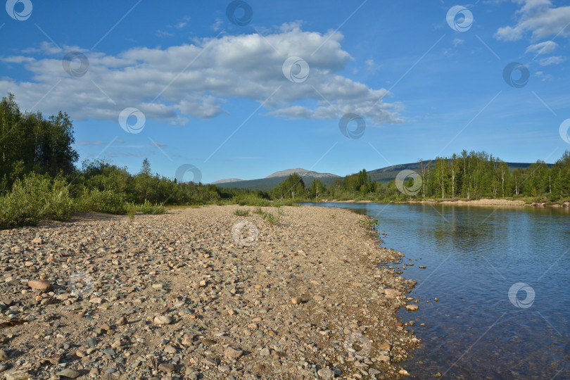
<path id="1" fill-rule="evenodd" d="M 137 174 L 106 160 L 78 164 L 72 120 L 64 112 L 44 117 L 22 112 L 13 94 L 0 102 L 0 228 L 68 220 L 73 213 L 165 213 L 171 205 L 286 205 L 299 201 L 410 201 L 432 198 L 508 198 L 561 203 L 570 198 L 570 153 L 549 167 L 537 161 L 524 170 L 485 152 L 467 152 L 421 163 L 417 175 L 384 185 L 366 170 L 325 186 L 305 186 L 290 175 L 271 191 L 220 189 L 178 183 L 153 174 L 144 159 Z M 399 181 L 399 182 L 398 182 Z M 398 189 L 398 187 L 400 189 Z"/>

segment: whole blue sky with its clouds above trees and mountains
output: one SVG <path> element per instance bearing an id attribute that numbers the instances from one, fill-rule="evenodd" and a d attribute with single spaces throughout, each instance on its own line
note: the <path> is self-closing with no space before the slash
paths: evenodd
<path id="1" fill-rule="evenodd" d="M 203 182 L 348 175 L 462 149 L 550 163 L 570 148 L 562 1 L 8 0 L 0 25 L 3 96 L 65 110 L 81 160 L 130 172 L 148 157 Z"/>

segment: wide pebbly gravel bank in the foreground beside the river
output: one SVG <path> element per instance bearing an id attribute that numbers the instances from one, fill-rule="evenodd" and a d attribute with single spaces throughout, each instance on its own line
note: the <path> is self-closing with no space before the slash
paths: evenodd
<path id="1" fill-rule="evenodd" d="M 415 282 L 367 217 L 208 206 L 0 231 L 0 379 L 393 379 Z M 277 216 L 276 208 L 263 208 Z M 410 318 L 412 319 L 412 318 Z"/>

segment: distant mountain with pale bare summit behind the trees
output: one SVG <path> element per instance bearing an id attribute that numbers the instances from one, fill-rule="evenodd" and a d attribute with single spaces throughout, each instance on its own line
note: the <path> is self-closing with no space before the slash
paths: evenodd
<path id="1" fill-rule="evenodd" d="M 300 175 L 301 178 L 303 178 L 305 186 L 311 186 L 312 182 L 315 179 L 319 179 L 323 184 L 330 186 L 335 179 L 341 178 L 340 176 L 334 175 L 332 173 L 313 172 L 312 170 L 306 170 L 301 167 L 298 167 L 297 169 L 287 169 L 287 170 L 281 170 L 280 172 L 274 172 L 273 174 L 260 179 L 249 179 L 245 181 L 239 180 L 234 182 L 229 182 L 226 179 L 221 179 L 220 181 L 212 183 L 224 189 L 236 188 L 236 189 L 267 191 L 273 189 L 275 186 L 283 182 L 285 179 L 287 179 L 287 177 L 289 177 L 289 175 L 292 175 L 293 173 L 297 173 L 298 175 Z"/>

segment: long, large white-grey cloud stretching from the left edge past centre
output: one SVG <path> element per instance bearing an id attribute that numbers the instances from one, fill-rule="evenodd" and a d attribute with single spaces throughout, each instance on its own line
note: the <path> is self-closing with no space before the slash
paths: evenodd
<path id="1" fill-rule="evenodd" d="M 4 56 L 31 72 L 30 81 L 0 78 L 0 91 L 13 92 L 29 109 L 55 113 L 63 108 L 74 120 L 118 120 L 134 107 L 147 119 L 185 124 L 189 118 L 215 118 L 226 113 L 232 98 L 263 104 L 267 113 L 286 118 L 335 119 L 343 113 L 365 115 L 376 123 L 398 123 L 401 105 L 386 103 L 386 89 L 372 89 L 336 74 L 353 60 L 341 48 L 340 32 L 305 32 L 298 24 L 277 32 L 222 35 L 166 48 L 136 47 L 116 55 L 83 51 L 89 69 L 72 77 L 62 68 L 65 51 L 43 44 L 41 51 Z M 291 56 L 308 63 L 309 75 L 294 83 L 283 75 Z M 79 65 L 79 63 L 72 63 Z M 46 95 L 47 94 L 47 95 Z"/>

